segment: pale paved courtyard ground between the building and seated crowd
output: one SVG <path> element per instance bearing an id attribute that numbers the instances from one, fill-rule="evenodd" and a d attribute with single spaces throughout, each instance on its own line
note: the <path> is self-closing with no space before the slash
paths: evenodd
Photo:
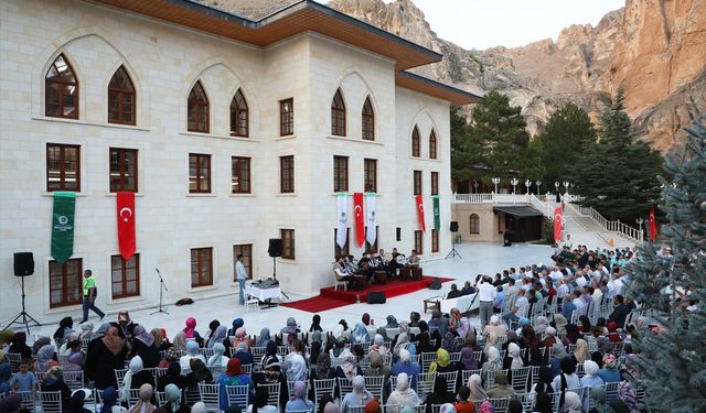
<path id="1" fill-rule="evenodd" d="M 553 250 L 546 246 L 531 246 L 531 244 L 513 244 L 512 247 L 504 248 L 500 244 L 490 243 L 463 243 L 457 246 L 458 252 L 462 259 L 448 259 L 436 260 L 425 262 L 424 273 L 425 275 L 439 275 L 456 279 L 459 285 L 467 280 L 473 281 L 479 273 L 495 274 L 503 269 L 510 267 L 522 267 L 533 263 L 549 263 L 552 262 L 549 256 Z M 443 284 L 441 291 L 422 290 L 411 294 L 388 298 L 386 304 L 382 305 L 368 305 L 366 303 L 351 304 L 343 307 L 321 312 L 322 327 L 324 329 L 332 329 L 340 319 L 346 319 L 349 325 L 360 319 L 363 313 L 368 313 L 374 319 L 376 325 L 384 325 L 385 318 L 388 314 L 393 314 L 397 319 L 405 319 L 409 315 L 409 312 L 416 311 L 422 314 L 422 318 L 428 319 L 430 314 L 424 315 L 422 300 L 432 296 L 445 294 L 450 290 L 451 283 Z M 308 296 L 289 293 L 290 301 L 307 298 Z M 311 324 L 311 317 L 313 314 L 308 312 L 301 312 L 288 307 L 275 307 L 266 308 L 261 311 L 250 309 L 245 312 L 245 308 L 237 304 L 237 291 L 233 291 L 232 297 L 215 297 L 208 300 L 200 300 L 193 305 L 186 305 L 176 307 L 174 305 L 167 307 L 169 315 L 154 314 L 156 308 L 141 309 L 131 312 L 130 315 L 136 323 L 142 324 L 146 327 L 164 327 L 168 335 L 171 337 L 178 332 L 179 328 L 183 328 L 184 319 L 186 317 L 195 317 L 199 322 L 197 329 L 200 332 L 207 330 L 207 325 L 212 319 L 218 319 L 222 324 L 229 325 L 233 318 L 242 317 L 245 320 L 245 326 L 248 334 L 257 334 L 260 328 L 268 327 L 271 333 L 279 332 L 285 326 L 287 317 L 295 317 L 300 324 L 302 329 L 308 329 Z M 129 308 L 128 308 L 129 309 Z M 115 313 L 109 313 L 104 320 L 114 320 L 116 318 Z M 81 314 L 74 316 L 76 323 L 81 319 Z M 98 327 L 98 318 L 92 314 L 90 322 L 94 323 L 95 328 Z M 473 320 L 477 324 L 477 319 Z M 19 325 L 13 326 L 15 329 L 20 328 Z M 78 328 L 78 325 L 75 325 Z M 33 335 L 52 335 L 56 329 L 56 325 L 46 325 L 42 327 L 31 328 Z"/>

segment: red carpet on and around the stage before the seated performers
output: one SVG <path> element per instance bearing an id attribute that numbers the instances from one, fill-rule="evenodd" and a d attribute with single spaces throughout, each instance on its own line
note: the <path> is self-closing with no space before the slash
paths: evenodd
<path id="1" fill-rule="evenodd" d="M 367 300 L 367 293 L 374 291 L 384 291 L 387 298 L 414 293 L 415 291 L 427 289 L 434 279 L 435 276 L 425 275 L 421 278 L 421 281 L 388 281 L 387 284 L 384 285 L 372 284 L 363 291 L 335 291 L 332 286 L 329 286 L 321 289 L 321 293 L 314 297 L 295 301 L 291 303 L 282 303 L 281 305 L 285 307 L 301 309 L 302 312 L 318 313 L 354 304 L 356 302 L 356 296 L 360 297 L 361 303 L 364 303 Z M 438 276 L 438 279 L 442 283 L 453 280 L 441 276 Z"/>

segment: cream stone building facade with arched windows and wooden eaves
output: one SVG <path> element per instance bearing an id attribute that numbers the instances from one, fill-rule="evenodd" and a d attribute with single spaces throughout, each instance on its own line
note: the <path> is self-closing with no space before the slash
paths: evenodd
<path id="1" fill-rule="evenodd" d="M 258 22 L 186 0 L 10 0 L 0 18 L 0 268 L 33 252 L 35 317 L 76 314 L 86 269 L 104 311 L 156 306 L 156 269 L 165 302 L 234 294 L 236 254 L 271 276 L 270 238 L 282 290 L 314 293 L 333 284 L 340 193 L 378 195 L 376 246 L 349 220 L 356 257 L 451 248 L 449 106 L 475 97 L 404 72 L 438 54 L 311 1 Z M 51 256 L 56 191 L 76 195 L 65 264 Z M 128 261 L 117 192 L 136 198 Z M 6 285 L 0 319 L 20 309 Z"/>

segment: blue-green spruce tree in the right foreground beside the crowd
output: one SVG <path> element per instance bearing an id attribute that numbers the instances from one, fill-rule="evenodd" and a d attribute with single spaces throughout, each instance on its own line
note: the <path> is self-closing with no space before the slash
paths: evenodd
<path id="1" fill-rule="evenodd" d="M 657 246 L 644 243 L 628 269 L 628 295 L 654 311 L 660 333 L 640 330 L 639 349 L 630 365 L 639 372 L 652 412 L 704 412 L 706 409 L 706 116 L 687 129 L 689 141 L 681 155 L 670 155 L 661 178 L 664 200 L 660 209 L 668 225 L 662 242 L 673 258 L 657 254 Z M 670 291 L 695 290 L 697 305 L 687 311 Z"/>

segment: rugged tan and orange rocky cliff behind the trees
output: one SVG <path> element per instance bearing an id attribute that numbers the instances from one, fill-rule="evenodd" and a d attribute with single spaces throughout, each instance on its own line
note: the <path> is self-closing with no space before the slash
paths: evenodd
<path id="1" fill-rule="evenodd" d="M 416 69 L 419 74 L 474 93 L 509 95 L 523 107 L 531 133 L 541 132 L 566 101 L 597 117 L 620 86 L 635 138 L 662 151 L 680 145 L 695 107 L 706 110 L 704 0 L 627 0 L 596 28 L 568 26 L 556 42 L 481 52 L 439 39 L 411 0 L 333 0 L 329 6 L 445 55 Z"/>

